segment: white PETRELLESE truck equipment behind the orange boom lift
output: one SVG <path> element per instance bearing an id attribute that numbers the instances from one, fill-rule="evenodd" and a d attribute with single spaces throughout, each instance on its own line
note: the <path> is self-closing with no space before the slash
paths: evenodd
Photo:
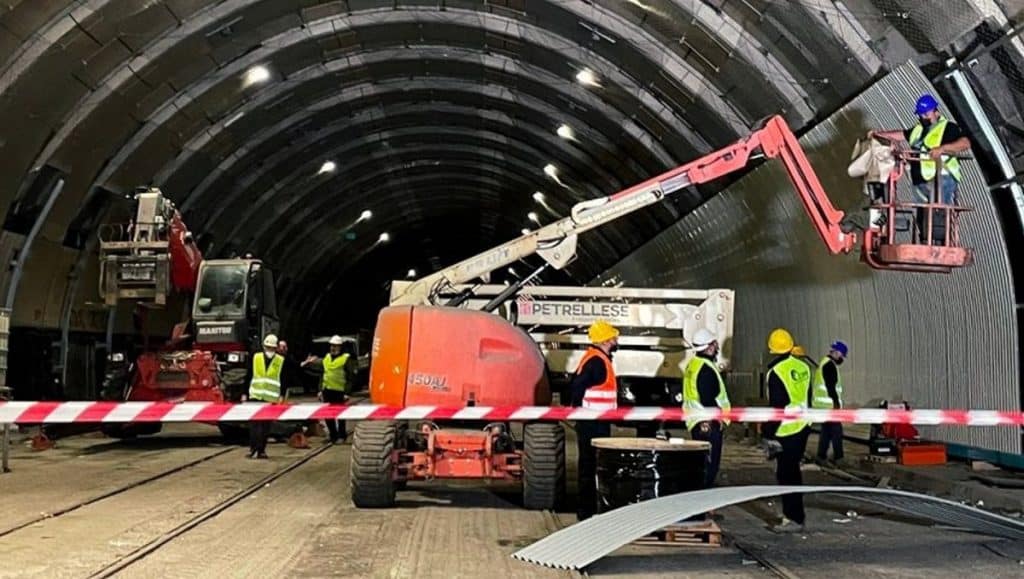
<path id="1" fill-rule="evenodd" d="M 410 282 L 392 282 L 391 296 Z M 439 300 L 463 292 L 472 297 L 460 307 L 483 309 L 508 290 L 504 285 L 456 285 Z M 553 382 L 567 385 L 589 340 L 587 328 L 606 320 L 622 332 L 612 364 L 620 378 L 620 404 L 675 406 L 681 402 L 682 369 L 693 356 L 688 338 L 698 328 L 718 336 L 719 366 L 730 368 L 733 304 L 729 289 L 687 290 L 625 287 L 524 285 L 517 296 L 495 309 L 526 331 L 544 353 Z"/>

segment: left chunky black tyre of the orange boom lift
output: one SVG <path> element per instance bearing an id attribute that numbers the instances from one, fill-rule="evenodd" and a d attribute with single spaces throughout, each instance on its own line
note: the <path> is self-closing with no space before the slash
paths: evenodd
<path id="1" fill-rule="evenodd" d="M 391 452 L 398 425 L 383 420 L 361 420 L 352 436 L 349 481 L 352 503 L 359 508 L 394 506 Z"/>

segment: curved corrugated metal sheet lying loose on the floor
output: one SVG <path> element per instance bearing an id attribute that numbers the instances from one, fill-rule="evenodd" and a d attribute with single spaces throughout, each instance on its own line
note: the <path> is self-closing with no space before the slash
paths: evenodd
<path id="1" fill-rule="evenodd" d="M 1024 523 L 929 495 L 874 487 L 720 487 L 646 500 L 561 529 L 512 556 L 555 569 L 584 569 L 615 549 L 690 516 L 790 493 L 835 493 L 996 537 L 1024 540 Z"/>

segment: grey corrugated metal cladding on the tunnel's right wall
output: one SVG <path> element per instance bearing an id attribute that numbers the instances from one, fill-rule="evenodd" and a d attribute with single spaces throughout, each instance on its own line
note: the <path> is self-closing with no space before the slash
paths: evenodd
<path id="1" fill-rule="evenodd" d="M 846 175 L 854 141 L 870 127 L 912 121 L 930 89 L 916 67 L 900 67 L 808 132 L 801 142 L 837 206 L 859 211 L 860 183 Z M 609 270 L 627 285 L 736 290 L 732 357 L 738 382 L 758 376 L 765 340 L 791 328 L 816 358 L 843 338 L 846 398 L 903 397 L 919 408 L 1019 409 L 1018 335 L 1007 248 L 974 163 L 961 200 L 973 266 L 951 276 L 879 273 L 854 256 L 830 256 L 781 166 L 746 175 Z M 743 388 L 753 389 L 753 385 Z M 925 428 L 948 442 L 1021 451 L 1011 428 Z"/>

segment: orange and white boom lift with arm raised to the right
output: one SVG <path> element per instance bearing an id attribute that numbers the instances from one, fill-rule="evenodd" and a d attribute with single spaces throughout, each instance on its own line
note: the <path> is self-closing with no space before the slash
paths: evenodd
<path id="1" fill-rule="evenodd" d="M 800 142 L 781 117 L 750 136 L 700 159 L 616 193 L 575 205 L 569 216 L 403 286 L 381 311 L 374 335 L 370 397 L 376 404 L 545 406 L 551 388 L 545 357 L 520 328 L 489 312 L 519 292 L 547 267 L 562 268 L 575 257 L 579 236 L 653 205 L 687 187 L 746 168 L 759 157 L 782 162 L 821 241 L 833 254 L 854 249 L 857 238 L 841 228 L 836 209 Z M 886 209 L 912 211 L 896 201 L 895 180 Z M 957 208 L 958 210 L 958 208 Z M 956 246 L 956 222 L 947 244 L 899 243 L 890 229 L 865 236 L 862 259 L 872 267 L 949 272 L 970 263 L 971 250 Z M 461 284 L 540 255 L 544 264 L 484 304 L 459 305 L 472 297 Z M 444 294 L 456 297 L 441 304 Z M 355 429 L 352 500 L 356 506 L 390 506 L 408 481 L 476 478 L 521 481 L 527 508 L 553 508 L 564 488 L 564 433 L 558 424 L 527 422 L 521 441 L 508 423 L 441 424 L 364 421 Z"/>

